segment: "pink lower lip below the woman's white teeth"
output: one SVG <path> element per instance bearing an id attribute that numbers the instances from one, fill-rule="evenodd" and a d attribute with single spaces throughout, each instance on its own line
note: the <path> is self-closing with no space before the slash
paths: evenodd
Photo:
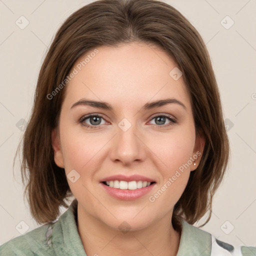
<path id="1" fill-rule="evenodd" d="M 119 188 L 113 188 L 107 185 L 104 185 L 102 182 L 100 182 L 100 185 L 105 189 L 106 192 L 108 192 L 110 195 L 117 199 L 121 200 L 135 200 L 151 191 L 155 183 L 152 183 L 149 186 L 137 188 L 137 189 L 119 189 Z"/>

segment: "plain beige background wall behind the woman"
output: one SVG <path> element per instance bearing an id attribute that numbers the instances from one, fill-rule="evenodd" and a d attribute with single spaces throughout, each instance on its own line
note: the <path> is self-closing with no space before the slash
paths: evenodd
<path id="1" fill-rule="evenodd" d="M 38 226 L 23 201 L 18 161 L 16 180 L 12 175 L 13 156 L 22 135 L 16 123 L 20 127 L 21 118 L 28 120 L 39 68 L 56 29 L 89 2 L 0 0 L 0 244 L 20 235 L 26 227 L 30 231 Z M 211 219 L 202 229 L 231 244 L 255 246 L 256 1 L 165 2 L 187 17 L 206 43 L 224 118 L 229 119 L 230 162 L 215 194 Z M 21 15 L 29 21 L 24 29 L 15 23 Z"/>

